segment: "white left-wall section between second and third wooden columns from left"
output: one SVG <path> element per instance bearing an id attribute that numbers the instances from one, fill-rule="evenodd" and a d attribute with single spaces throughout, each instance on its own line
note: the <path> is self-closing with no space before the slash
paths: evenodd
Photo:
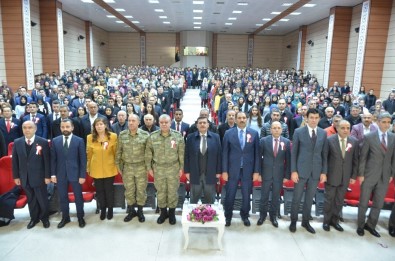
<path id="1" fill-rule="evenodd" d="M 77 40 L 79 35 L 85 37 L 85 22 L 66 12 L 63 12 L 64 67 L 65 70 L 75 70 L 87 67 L 86 38 Z"/>

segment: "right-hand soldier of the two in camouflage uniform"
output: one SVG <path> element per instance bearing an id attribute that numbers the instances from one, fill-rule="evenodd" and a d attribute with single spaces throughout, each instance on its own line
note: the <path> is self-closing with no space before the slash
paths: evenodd
<path id="1" fill-rule="evenodd" d="M 151 133 L 148 138 L 145 157 L 148 174 L 155 175 L 158 206 L 161 209 L 158 224 L 169 218 L 169 223 L 176 223 L 175 209 L 178 203 L 177 190 L 179 177 L 184 168 L 184 138 L 170 129 L 171 119 L 167 114 L 159 117 L 160 130 Z M 167 211 L 169 208 L 169 211 Z"/>

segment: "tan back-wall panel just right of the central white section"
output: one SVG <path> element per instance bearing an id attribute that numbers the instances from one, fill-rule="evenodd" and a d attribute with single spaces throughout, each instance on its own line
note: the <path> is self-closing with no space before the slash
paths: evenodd
<path id="1" fill-rule="evenodd" d="M 248 35 L 218 34 L 217 67 L 247 66 L 247 49 Z"/>

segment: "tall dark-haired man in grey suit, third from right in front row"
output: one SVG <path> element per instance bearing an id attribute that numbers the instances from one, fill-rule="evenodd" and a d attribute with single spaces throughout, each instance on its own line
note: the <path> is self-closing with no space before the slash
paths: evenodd
<path id="1" fill-rule="evenodd" d="M 295 131 L 292 144 L 291 180 L 295 183 L 295 189 L 292 198 L 289 230 L 291 232 L 296 231 L 299 205 L 306 186 L 302 227 L 314 234 L 315 230 L 310 225 L 309 219 L 318 182 L 326 181 L 328 141 L 326 132 L 317 127 L 320 120 L 318 110 L 309 109 L 306 116 L 307 125 Z"/>

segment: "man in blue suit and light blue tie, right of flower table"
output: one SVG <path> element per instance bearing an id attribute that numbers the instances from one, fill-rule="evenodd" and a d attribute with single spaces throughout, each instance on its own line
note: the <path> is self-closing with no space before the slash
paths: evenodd
<path id="1" fill-rule="evenodd" d="M 225 226 L 231 225 L 233 205 L 239 181 L 241 181 L 242 206 L 240 216 L 245 226 L 248 219 L 252 181 L 259 177 L 259 134 L 246 127 L 247 115 L 236 115 L 237 128 L 229 129 L 222 142 L 222 178 L 227 181 L 225 199 Z"/>

